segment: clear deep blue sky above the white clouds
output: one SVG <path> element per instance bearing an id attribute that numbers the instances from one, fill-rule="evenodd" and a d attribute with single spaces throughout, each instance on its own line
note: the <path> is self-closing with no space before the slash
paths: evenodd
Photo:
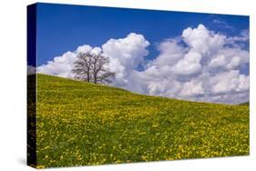
<path id="1" fill-rule="evenodd" d="M 214 21 L 226 23 L 216 24 Z M 72 51 L 78 45 L 100 46 L 109 38 L 130 32 L 142 34 L 151 43 L 147 58 L 158 54 L 156 44 L 175 37 L 188 26 L 206 25 L 225 35 L 239 35 L 249 28 L 249 17 L 211 15 L 84 5 L 37 5 L 37 65 L 57 55 Z M 230 26 L 227 26 L 230 25 Z M 230 28 L 232 27 L 232 28 Z"/>

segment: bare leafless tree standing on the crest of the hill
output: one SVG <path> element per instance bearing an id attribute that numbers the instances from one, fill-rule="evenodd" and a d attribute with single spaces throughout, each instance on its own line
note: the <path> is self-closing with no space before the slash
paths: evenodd
<path id="1" fill-rule="evenodd" d="M 115 73 L 108 68 L 109 58 L 102 53 L 78 54 L 77 61 L 74 63 L 73 73 L 75 78 L 88 83 L 110 84 Z"/>

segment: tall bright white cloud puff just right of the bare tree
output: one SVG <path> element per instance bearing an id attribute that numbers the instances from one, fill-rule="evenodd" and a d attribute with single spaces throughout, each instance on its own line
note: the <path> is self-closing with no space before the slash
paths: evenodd
<path id="1" fill-rule="evenodd" d="M 102 49 L 110 58 L 109 68 L 116 72 L 115 83 L 118 86 L 126 86 L 128 77 L 148 55 L 146 49 L 149 42 L 143 35 L 131 33 L 125 38 L 110 39 Z"/>

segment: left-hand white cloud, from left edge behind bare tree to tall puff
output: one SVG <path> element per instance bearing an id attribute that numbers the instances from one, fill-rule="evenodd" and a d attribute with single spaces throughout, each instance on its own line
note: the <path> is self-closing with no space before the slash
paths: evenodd
<path id="1" fill-rule="evenodd" d="M 74 52 L 68 51 L 64 55 L 56 56 L 53 61 L 48 61 L 46 65 L 38 66 L 37 72 L 46 75 L 73 77 L 71 71 L 78 53 L 98 54 L 103 51 L 104 55 L 110 58 L 109 68 L 117 73 L 116 85 L 126 85 L 128 84 L 128 75 L 148 55 L 146 49 L 148 45 L 149 43 L 143 35 L 134 33 L 127 35 L 125 38 L 109 39 L 102 47 L 93 48 L 90 45 L 81 45 Z"/>

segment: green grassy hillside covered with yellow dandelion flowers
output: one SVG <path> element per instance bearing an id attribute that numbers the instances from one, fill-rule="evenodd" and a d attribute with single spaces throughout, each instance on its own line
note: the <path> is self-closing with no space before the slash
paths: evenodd
<path id="1" fill-rule="evenodd" d="M 37 167 L 249 154 L 248 106 L 37 76 Z"/>

